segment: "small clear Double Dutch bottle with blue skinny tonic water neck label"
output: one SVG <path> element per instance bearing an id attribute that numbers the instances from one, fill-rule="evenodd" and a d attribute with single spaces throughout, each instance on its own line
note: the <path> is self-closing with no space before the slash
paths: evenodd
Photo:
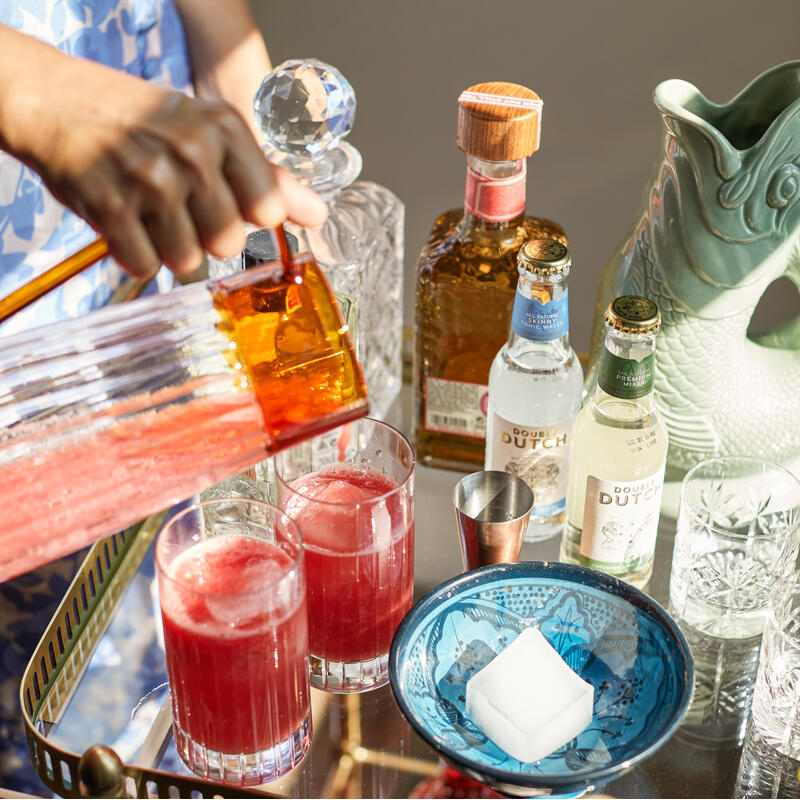
<path id="1" fill-rule="evenodd" d="M 508 341 L 489 372 L 485 468 L 517 475 L 533 489 L 525 538 L 537 541 L 564 528 L 583 370 L 569 344 L 566 246 L 534 239 L 522 246 L 517 263 Z"/>

